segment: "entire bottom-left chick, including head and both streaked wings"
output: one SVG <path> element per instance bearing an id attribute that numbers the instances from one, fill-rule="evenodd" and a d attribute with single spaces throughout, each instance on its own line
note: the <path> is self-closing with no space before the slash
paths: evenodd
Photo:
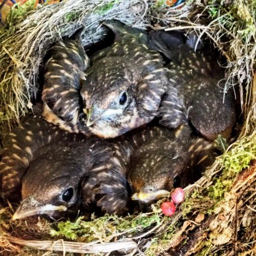
<path id="1" fill-rule="evenodd" d="M 95 136 L 62 131 L 39 117 L 29 118 L 9 134 L 0 153 L 1 190 L 11 199 L 22 191 L 23 201 L 13 218 L 52 216 L 58 210 L 76 208 L 82 201 L 109 214 L 122 214 L 128 202 L 126 173 L 121 168 L 126 166 L 126 158 L 116 153 L 115 145 Z M 108 190 L 103 186 L 87 191 L 86 185 L 92 184 L 99 171 L 101 180 L 97 182 L 101 186 L 108 182 Z M 108 175 L 112 178 L 105 177 Z M 116 202 L 110 191 L 117 187 Z"/>

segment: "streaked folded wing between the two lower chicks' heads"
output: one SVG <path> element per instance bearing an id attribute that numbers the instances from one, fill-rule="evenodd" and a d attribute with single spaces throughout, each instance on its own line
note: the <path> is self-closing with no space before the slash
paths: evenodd
<path id="1" fill-rule="evenodd" d="M 102 212 L 121 215 L 128 210 L 127 161 L 129 151 L 118 144 L 97 147 L 98 160 L 81 183 L 84 208 L 98 206 Z"/>

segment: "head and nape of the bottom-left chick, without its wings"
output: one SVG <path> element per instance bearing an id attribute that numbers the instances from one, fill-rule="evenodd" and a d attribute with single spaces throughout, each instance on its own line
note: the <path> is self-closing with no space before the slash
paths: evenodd
<path id="1" fill-rule="evenodd" d="M 79 181 L 93 165 L 90 139 L 59 141 L 34 154 L 22 179 L 22 199 L 13 220 L 33 215 L 58 215 L 80 205 Z M 73 137 L 73 138 L 72 138 Z M 81 139 L 81 138 L 80 138 Z"/>

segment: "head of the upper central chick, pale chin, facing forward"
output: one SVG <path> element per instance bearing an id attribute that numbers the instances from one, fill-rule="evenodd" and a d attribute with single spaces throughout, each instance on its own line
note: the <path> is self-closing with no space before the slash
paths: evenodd
<path id="1" fill-rule="evenodd" d="M 83 112 L 89 130 L 99 137 L 113 138 L 137 125 L 136 87 L 129 73 L 117 66 L 88 74 L 81 90 Z"/>

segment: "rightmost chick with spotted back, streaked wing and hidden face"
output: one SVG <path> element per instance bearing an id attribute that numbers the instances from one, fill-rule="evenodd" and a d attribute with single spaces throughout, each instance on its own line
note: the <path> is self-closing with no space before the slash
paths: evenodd
<path id="1" fill-rule="evenodd" d="M 236 122 L 231 90 L 224 94 L 225 75 L 214 50 L 194 52 L 187 45 L 173 51 L 169 84 L 159 108 L 160 123 L 174 128 L 188 120 L 209 140 L 229 138 Z"/>

